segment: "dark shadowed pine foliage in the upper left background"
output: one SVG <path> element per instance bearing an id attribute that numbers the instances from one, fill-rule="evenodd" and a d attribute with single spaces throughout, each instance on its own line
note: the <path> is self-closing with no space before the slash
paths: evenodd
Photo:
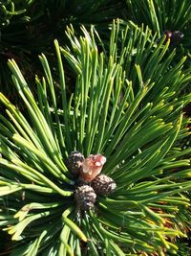
<path id="1" fill-rule="evenodd" d="M 108 22 L 120 13 L 121 4 L 112 0 L 6 0 L 0 1 L 0 89 L 11 100 L 9 58 L 14 58 L 31 83 L 33 74 L 40 74 L 36 61 L 42 52 L 53 58 L 53 39 L 66 43 L 65 30 L 69 24 L 79 32 L 81 24 L 95 24 L 105 31 Z M 53 59 L 53 61 L 56 61 Z M 33 89 L 35 91 L 35 89 Z"/>

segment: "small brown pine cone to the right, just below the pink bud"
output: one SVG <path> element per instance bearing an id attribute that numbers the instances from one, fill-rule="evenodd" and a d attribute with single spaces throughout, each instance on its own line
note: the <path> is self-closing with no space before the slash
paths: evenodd
<path id="1" fill-rule="evenodd" d="M 116 188 L 116 182 L 107 175 L 98 175 L 92 181 L 91 186 L 98 195 L 107 195 L 112 193 Z"/>

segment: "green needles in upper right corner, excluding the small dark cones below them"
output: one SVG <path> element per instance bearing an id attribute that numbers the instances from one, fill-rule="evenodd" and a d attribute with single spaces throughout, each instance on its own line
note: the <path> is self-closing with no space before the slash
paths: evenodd
<path id="1" fill-rule="evenodd" d="M 180 31 L 190 47 L 191 6 L 189 0 L 125 0 L 127 19 L 148 25 L 160 36 L 165 30 Z"/>

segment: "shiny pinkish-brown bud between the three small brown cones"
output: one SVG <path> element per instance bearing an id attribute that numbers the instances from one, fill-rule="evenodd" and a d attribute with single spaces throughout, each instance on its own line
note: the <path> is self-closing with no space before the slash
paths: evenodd
<path id="1" fill-rule="evenodd" d="M 89 155 L 83 161 L 79 178 L 85 182 L 91 182 L 96 175 L 100 174 L 105 162 L 106 157 L 100 153 Z"/>

